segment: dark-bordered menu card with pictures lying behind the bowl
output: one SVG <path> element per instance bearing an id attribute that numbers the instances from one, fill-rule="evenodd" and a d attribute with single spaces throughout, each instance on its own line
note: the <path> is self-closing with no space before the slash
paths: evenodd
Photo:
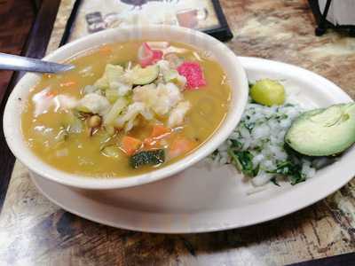
<path id="1" fill-rule="evenodd" d="M 221 41 L 233 38 L 218 0 L 75 0 L 62 44 L 112 27 L 163 24 L 201 30 Z"/>

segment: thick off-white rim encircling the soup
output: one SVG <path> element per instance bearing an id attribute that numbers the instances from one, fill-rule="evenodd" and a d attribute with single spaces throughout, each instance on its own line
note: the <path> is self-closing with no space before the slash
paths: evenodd
<path id="1" fill-rule="evenodd" d="M 156 33 L 162 33 L 164 31 L 170 31 L 176 34 L 182 35 L 190 35 L 193 38 L 197 38 L 203 40 L 203 42 L 208 42 L 210 45 L 218 46 L 218 49 L 223 50 L 225 54 L 225 58 L 228 59 L 233 66 L 235 66 L 236 75 L 239 77 L 238 83 L 240 87 L 238 90 L 241 90 L 240 96 L 238 97 L 238 105 L 231 102 L 230 110 L 228 111 L 228 115 L 225 118 L 219 128 L 213 133 L 209 139 L 201 145 L 198 149 L 196 149 L 193 153 L 189 154 L 185 158 L 181 160 L 177 160 L 170 164 L 169 166 L 159 168 L 157 170 L 148 172 L 146 174 L 140 174 L 137 176 L 122 176 L 117 178 L 95 178 L 94 176 L 84 176 L 84 175 L 76 175 L 67 173 L 65 171 L 59 170 L 57 168 L 52 167 L 51 165 L 47 164 L 39 157 L 33 153 L 28 145 L 26 144 L 25 139 L 20 134 L 21 137 L 16 137 L 14 132 L 18 131 L 20 128 L 20 124 L 13 122 L 13 108 L 17 105 L 16 100 L 20 94 L 21 86 L 24 86 L 26 82 L 30 81 L 30 77 L 33 74 L 25 74 L 23 78 L 16 84 L 15 88 L 12 90 L 10 97 L 6 103 L 4 109 L 4 117 L 3 117 L 3 125 L 4 125 L 4 137 L 12 153 L 16 156 L 18 160 L 20 160 L 27 168 L 34 171 L 37 175 L 43 176 L 51 181 L 57 182 L 59 184 L 64 184 L 67 186 L 79 188 L 79 189 L 89 189 L 89 190 L 107 190 L 107 189 L 118 189 L 118 188 L 128 188 L 133 187 L 141 184 L 148 184 L 152 183 L 169 176 L 174 176 L 178 172 L 183 171 L 185 168 L 192 166 L 193 164 L 197 163 L 199 160 L 204 159 L 210 153 L 217 149 L 219 145 L 221 145 L 227 137 L 233 132 L 233 129 L 237 126 L 239 121 L 241 120 L 241 115 L 247 105 L 248 102 L 248 79 L 247 74 L 243 67 L 241 66 L 241 62 L 237 58 L 237 56 L 231 51 L 224 43 L 220 43 L 217 39 L 201 33 L 199 31 L 195 31 L 189 28 L 184 27 L 176 27 L 176 26 L 148 26 L 148 27 L 120 27 L 120 28 L 113 28 L 113 29 L 106 29 L 101 32 L 84 36 L 78 40 L 75 40 L 72 43 L 67 43 L 66 45 L 60 47 L 56 51 L 52 51 L 48 54 L 44 60 L 53 60 L 53 61 L 60 61 L 56 59 L 60 57 L 61 54 L 65 54 L 66 52 L 71 54 L 70 56 L 63 56 L 61 57 L 65 59 L 70 59 L 73 56 L 77 55 L 77 53 L 71 53 L 71 50 L 75 50 L 74 48 L 80 46 L 81 43 L 85 43 L 90 40 L 94 40 L 95 38 L 105 39 L 104 37 L 107 35 L 119 35 L 119 33 L 127 33 L 131 35 L 131 31 L 140 31 L 144 33 L 145 31 L 151 31 Z M 129 37 L 128 39 L 137 39 L 142 40 L 144 38 L 139 38 L 138 36 Z M 110 43 L 110 42 L 108 42 Z M 183 42 L 184 43 L 184 42 Z M 99 42 L 96 46 L 105 44 L 105 42 Z M 187 43 L 193 45 L 193 43 Z M 92 49 L 95 46 L 91 46 Z M 88 48 L 83 48 L 81 51 L 86 51 Z M 222 66 L 223 67 L 223 66 Z M 23 89 L 22 89 L 23 90 Z M 21 90 L 21 91 L 22 91 Z M 232 93 L 236 89 L 232 88 Z M 235 93 L 233 93 L 233 100 L 237 101 L 235 98 Z M 20 112 L 21 113 L 21 112 Z M 20 115 L 20 114 L 19 114 Z M 229 116 L 229 118 L 228 118 Z M 21 131 L 21 129 L 20 129 Z M 25 148 L 25 152 L 23 149 Z M 22 149 L 22 150 L 21 150 Z"/>

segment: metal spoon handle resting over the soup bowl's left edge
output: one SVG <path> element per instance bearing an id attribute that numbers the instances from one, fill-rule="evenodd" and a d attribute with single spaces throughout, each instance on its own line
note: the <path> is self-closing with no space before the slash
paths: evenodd
<path id="1" fill-rule="evenodd" d="M 28 72 L 58 73 L 74 69 L 74 65 L 46 62 L 0 52 L 0 69 Z"/>

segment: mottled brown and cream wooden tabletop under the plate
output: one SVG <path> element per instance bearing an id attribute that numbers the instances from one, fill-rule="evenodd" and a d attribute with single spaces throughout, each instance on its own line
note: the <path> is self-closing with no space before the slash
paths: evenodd
<path id="1" fill-rule="evenodd" d="M 61 2 L 48 51 L 58 47 L 73 2 Z M 303 66 L 355 97 L 355 39 L 314 36 L 305 0 L 221 3 L 235 35 L 228 45 L 237 54 Z M 0 265 L 283 265 L 354 251 L 353 181 L 326 200 L 269 223 L 162 235 L 114 229 L 63 211 L 36 192 L 27 168 L 17 162 L 0 215 Z M 354 264 L 351 259 L 335 261 Z"/>

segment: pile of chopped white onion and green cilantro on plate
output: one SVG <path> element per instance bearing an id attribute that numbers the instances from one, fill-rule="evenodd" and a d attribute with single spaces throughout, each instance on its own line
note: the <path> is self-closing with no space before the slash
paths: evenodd
<path id="1" fill-rule="evenodd" d="M 213 164 L 232 163 L 250 176 L 256 186 L 280 178 L 291 184 L 315 175 L 314 161 L 285 146 L 284 137 L 292 121 L 303 110 L 300 106 L 261 106 L 249 103 L 232 135 L 211 154 Z M 321 162 L 320 162 L 321 163 Z"/>

